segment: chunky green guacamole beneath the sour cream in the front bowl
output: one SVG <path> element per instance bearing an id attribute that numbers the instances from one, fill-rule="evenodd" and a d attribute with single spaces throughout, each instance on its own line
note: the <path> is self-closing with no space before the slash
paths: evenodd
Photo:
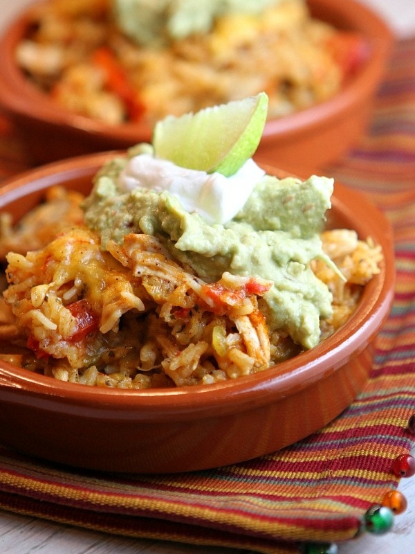
<path id="1" fill-rule="evenodd" d="M 331 315 L 332 295 L 310 262 L 321 258 L 331 265 L 319 232 L 331 207 L 333 179 L 313 176 L 303 182 L 264 175 L 230 221 L 212 224 L 183 208 L 169 190 L 126 190 L 122 170 L 129 159 L 149 152 L 151 146 L 138 145 L 95 176 L 84 202 L 85 222 L 100 234 L 102 247 L 109 240 L 122 243 L 129 233 L 146 233 L 209 283 L 224 271 L 271 280 L 273 286 L 259 299 L 268 328 L 287 332 L 303 348 L 315 346 L 320 318 Z"/>

